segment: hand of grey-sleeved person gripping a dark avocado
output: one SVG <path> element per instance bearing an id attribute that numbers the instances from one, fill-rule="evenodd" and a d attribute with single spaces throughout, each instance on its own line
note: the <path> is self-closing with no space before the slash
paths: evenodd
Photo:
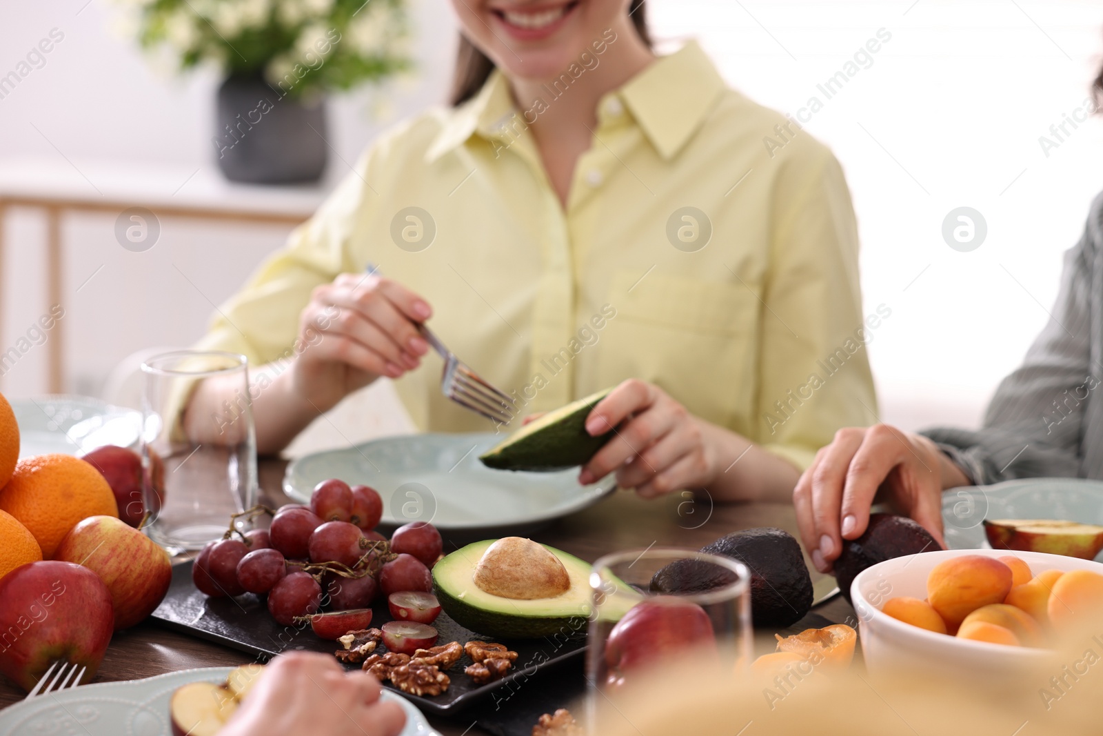
<path id="1" fill-rule="evenodd" d="M 964 484 L 961 469 L 922 435 L 884 424 L 846 427 L 816 452 L 793 489 L 793 506 L 812 563 L 827 573 L 843 540 L 866 531 L 878 489 L 896 513 L 914 519 L 945 546 L 942 491 Z"/>

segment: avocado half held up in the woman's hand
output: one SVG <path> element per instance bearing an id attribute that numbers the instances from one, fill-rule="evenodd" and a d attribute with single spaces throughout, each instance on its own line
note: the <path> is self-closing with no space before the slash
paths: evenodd
<path id="1" fill-rule="evenodd" d="M 479 459 L 496 470 L 550 472 L 586 465 L 613 436 L 612 429 L 597 437 L 586 431 L 586 417 L 610 391 L 612 388 L 599 391 L 548 412 L 480 455 Z"/>

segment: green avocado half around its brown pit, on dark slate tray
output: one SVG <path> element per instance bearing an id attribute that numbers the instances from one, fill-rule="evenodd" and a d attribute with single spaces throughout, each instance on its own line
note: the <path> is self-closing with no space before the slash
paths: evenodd
<path id="1" fill-rule="evenodd" d="M 563 563 L 570 578 L 570 588 L 555 598 L 503 598 L 486 593 L 473 579 L 475 565 L 496 541 L 474 542 L 432 566 L 433 593 L 445 612 L 460 626 L 495 639 L 585 634 L 591 609 L 590 564 L 555 547 L 542 545 Z M 630 605 L 631 601 L 627 600 L 625 610 Z M 602 606 L 604 609 L 606 606 Z"/>

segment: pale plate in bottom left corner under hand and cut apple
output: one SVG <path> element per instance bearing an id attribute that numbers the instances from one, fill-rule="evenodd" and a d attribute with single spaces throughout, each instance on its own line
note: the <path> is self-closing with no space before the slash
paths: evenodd
<path id="1" fill-rule="evenodd" d="M 32 697 L 0 711 L 0 736 L 171 736 L 169 698 L 172 692 L 190 682 L 224 682 L 232 669 L 183 670 L 146 680 L 94 683 Z M 440 736 L 413 704 L 386 691 L 383 697 L 406 711 L 401 736 Z"/>

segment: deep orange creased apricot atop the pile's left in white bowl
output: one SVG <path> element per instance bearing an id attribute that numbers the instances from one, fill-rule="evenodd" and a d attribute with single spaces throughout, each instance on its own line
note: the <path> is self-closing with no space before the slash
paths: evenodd
<path id="1" fill-rule="evenodd" d="M 1004 602 L 1011 579 L 1011 568 L 995 557 L 962 555 L 934 566 L 927 578 L 927 596 L 946 628 L 953 629 L 977 608 Z"/>

